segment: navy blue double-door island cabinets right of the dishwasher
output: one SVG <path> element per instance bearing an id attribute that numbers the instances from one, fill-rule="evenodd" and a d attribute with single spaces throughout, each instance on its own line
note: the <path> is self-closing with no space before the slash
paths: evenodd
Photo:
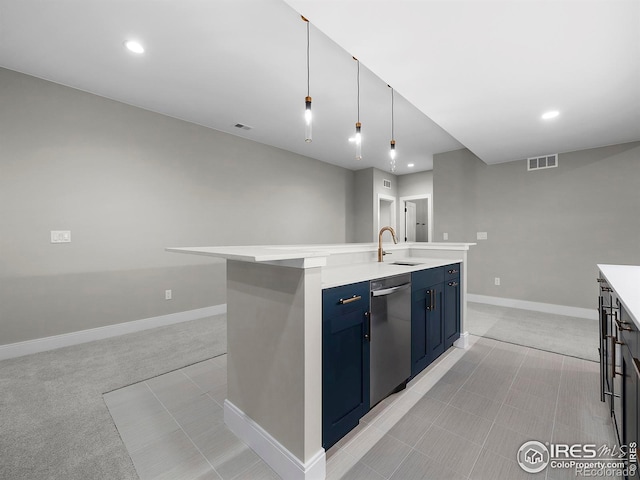
<path id="1" fill-rule="evenodd" d="M 411 376 L 460 337 L 460 264 L 411 276 Z"/>

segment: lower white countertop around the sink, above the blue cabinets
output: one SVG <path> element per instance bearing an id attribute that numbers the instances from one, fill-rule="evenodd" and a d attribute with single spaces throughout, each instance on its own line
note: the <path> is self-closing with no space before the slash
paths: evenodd
<path id="1" fill-rule="evenodd" d="M 418 265 L 394 265 L 393 262 L 412 262 Z M 402 257 L 384 262 L 355 263 L 352 265 L 336 265 L 322 269 L 322 288 L 338 287 L 350 283 L 364 282 L 376 278 L 401 275 L 427 268 L 441 267 L 462 260 L 445 258 Z"/>

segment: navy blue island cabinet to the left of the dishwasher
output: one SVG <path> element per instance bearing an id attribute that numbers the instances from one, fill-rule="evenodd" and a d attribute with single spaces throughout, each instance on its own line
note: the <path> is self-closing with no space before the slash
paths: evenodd
<path id="1" fill-rule="evenodd" d="M 322 446 L 369 410 L 369 282 L 322 291 Z"/>

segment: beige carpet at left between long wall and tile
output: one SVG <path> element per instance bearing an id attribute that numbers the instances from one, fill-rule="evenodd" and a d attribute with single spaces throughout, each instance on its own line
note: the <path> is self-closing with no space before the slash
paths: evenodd
<path id="1" fill-rule="evenodd" d="M 0 361 L 0 479 L 137 479 L 102 394 L 226 346 L 219 315 Z"/>

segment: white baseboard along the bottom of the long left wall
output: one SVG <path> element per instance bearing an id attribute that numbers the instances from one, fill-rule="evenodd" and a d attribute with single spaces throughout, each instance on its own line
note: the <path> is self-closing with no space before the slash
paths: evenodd
<path id="1" fill-rule="evenodd" d="M 47 350 L 55 350 L 56 348 L 69 347 L 94 340 L 102 340 L 103 338 L 117 337 L 126 333 L 140 332 L 150 328 L 188 322 L 189 320 L 197 320 L 199 318 L 226 313 L 226 311 L 226 304 L 213 305 L 211 307 L 187 310 L 186 312 L 170 313 L 168 315 L 143 318 L 142 320 L 134 320 L 132 322 L 118 323 L 105 327 L 54 335 L 52 337 L 36 338 L 24 342 L 0 345 L 0 360 L 22 357 L 23 355 L 45 352 Z"/>

